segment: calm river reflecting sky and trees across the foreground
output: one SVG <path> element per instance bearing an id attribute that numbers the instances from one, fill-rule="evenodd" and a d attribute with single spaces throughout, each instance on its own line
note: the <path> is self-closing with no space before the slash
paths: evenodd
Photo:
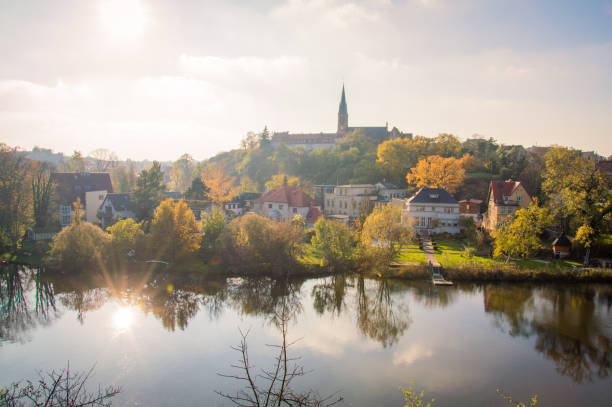
<path id="1" fill-rule="evenodd" d="M 359 276 L 275 281 L 117 273 L 53 276 L 0 268 L 0 384 L 95 366 L 118 406 L 229 406 L 250 362 L 270 368 L 289 315 L 298 390 L 345 406 L 403 406 L 399 386 L 436 406 L 612 405 L 612 286 L 458 284 Z"/>

